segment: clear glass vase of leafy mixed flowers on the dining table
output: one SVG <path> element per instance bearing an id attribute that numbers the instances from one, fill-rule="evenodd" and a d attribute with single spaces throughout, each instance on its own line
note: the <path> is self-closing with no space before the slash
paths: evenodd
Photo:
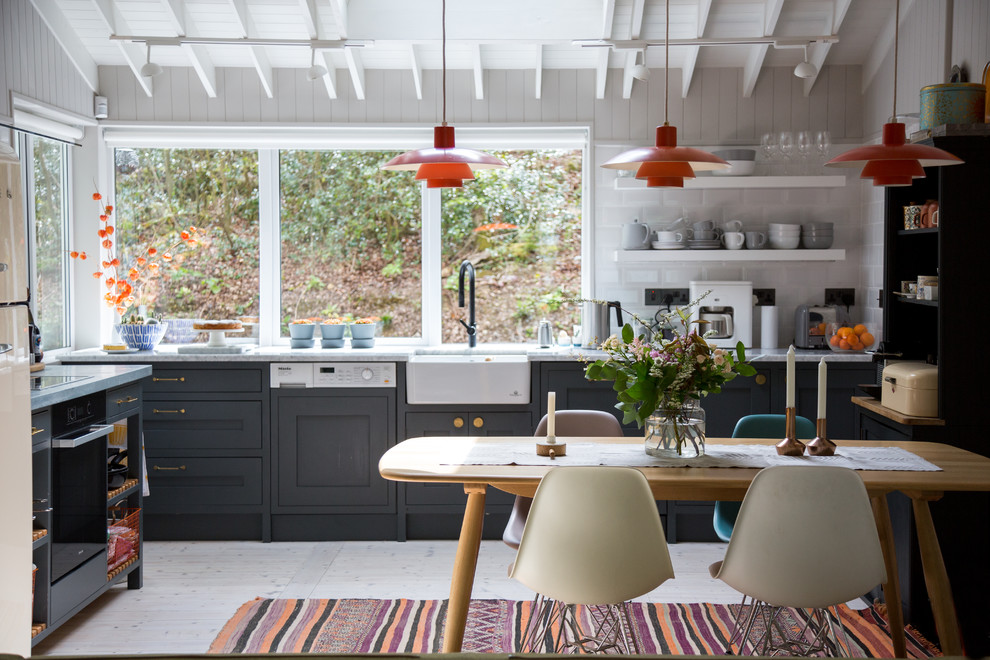
<path id="1" fill-rule="evenodd" d="M 702 296 L 704 297 L 704 296 Z M 656 332 L 636 336 L 622 327 L 600 349 L 606 357 L 585 367 L 588 380 L 614 381 L 623 423 L 645 426 L 645 449 L 651 456 L 690 458 L 705 453 L 705 417 L 701 398 L 722 391 L 736 376 L 752 376 L 742 342 L 731 350 L 711 345 L 703 321 L 691 320 L 691 308 L 700 299 L 671 312 L 658 314 Z M 629 314 L 629 312 L 627 312 Z M 630 314 L 640 325 L 647 325 Z M 695 327 L 698 326 L 698 327 Z"/>

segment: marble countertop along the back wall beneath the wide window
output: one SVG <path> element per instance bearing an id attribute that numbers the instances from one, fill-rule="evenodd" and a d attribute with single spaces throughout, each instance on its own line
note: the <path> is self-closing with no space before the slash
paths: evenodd
<path id="1" fill-rule="evenodd" d="M 578 359 L 595 360 L 605 353 L 590 348 L 557 346 L 539 348 L 534 344 L 482 344 L 468 348 L 465 344 L 444 346 L 409 346 L 381 343 L 373 348 L 289 348 L 288 346 L 253 346 L 243 353 L 178 353 L 176 346 L 163 345 L 153 351 L 108 354 L 91 348 L 74 351 L 63 356 L 65 362 L 155 364 L 159 362 L 408 362 L 417 355 L 525 355 L 531 362 L 568 362 Z M 751 348 L 746 357 L 750 362 L 783 362 L 787 358 L 785 348 Z M 796 349 L 797 362 L 872 362 L 867 353 L 836 353 Z"/>

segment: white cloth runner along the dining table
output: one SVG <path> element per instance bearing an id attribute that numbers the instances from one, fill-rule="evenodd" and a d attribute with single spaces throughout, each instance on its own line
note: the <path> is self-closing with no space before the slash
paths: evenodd
<path id="1" fill-rule="evenodd" d="M 472 445 L 463 456 L 442 465 L 625 465 L 630 467 L 742 467 L 833 465 L 853 470 L 940 472 L 942 468 L 900 447 L 838 447 L 834 456 L 779 456 L 773 445 L 706 445 L 705 455 L 691 459 L 648 456 L 640 444 L 602 445 L 568 442 L 567 455 L 536 455 L 535 441 Z"/>

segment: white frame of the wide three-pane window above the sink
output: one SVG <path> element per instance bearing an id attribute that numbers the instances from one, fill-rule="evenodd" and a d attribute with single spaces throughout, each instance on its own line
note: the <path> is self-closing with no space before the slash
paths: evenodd
<path id="1" fill-rule="evenodd" d="M 107 122 L 102 127 L 107 151 L 109 180 L 116 148 L 255 149 L 258 151 L 259 345 L 285 347 L 288 337 L 279 333 L 281 299 L 281 237 L 279 151 L 283 149 L 416 149 L 430 144 L 432 126 L 250 126 L 186 125 L 154 126 Z M 591 249 L 591 209 L 594 208 L 595 174 L 591 171 L 590 124 L 458 126 L 458 146 L 475 149 L 580 149 L 582 152 L 581 296 L 591 297 L 594 287 L 594 253 Z M 395 176 L 406 176 L 397 173 Z M 115 187 L 114 187 L 115 189 Z M 113 192 L 113 191 L 111 191 Z M 442 291 L 431 282 L 440 279 L 441 196 L 439 189 L 422 186 L 422 336 L 379 337 L 376 343 L 391 346 L 441 346 Z M 105 322 L 105 321 L 104 321 Z M 101 332 L 101 335 L 103 333 Z"/>

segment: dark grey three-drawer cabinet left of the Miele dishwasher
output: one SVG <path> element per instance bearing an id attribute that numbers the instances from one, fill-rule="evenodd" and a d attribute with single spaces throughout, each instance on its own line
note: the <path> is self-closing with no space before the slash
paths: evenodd
<path id="1" fill-rule="evenodd" d="M 149 538 L 271 540 L 267 379 L 267 365 L 208 362 L 145 379 Z"/>

